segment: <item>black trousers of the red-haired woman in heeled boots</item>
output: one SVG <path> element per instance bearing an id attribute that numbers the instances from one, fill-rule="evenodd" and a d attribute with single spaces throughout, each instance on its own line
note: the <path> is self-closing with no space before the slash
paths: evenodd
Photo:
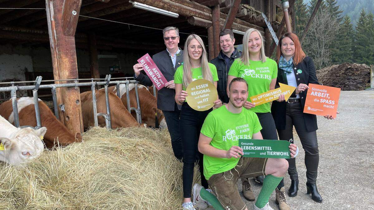
<path id="1" fill-rule="evenodd" d="M 301 145 L 305 151 L 306 178 L 311 184 L 315 184 L 318 174 L 318 142 L 316 131 L 307 132 L 301 103 L 286 103 L 286 127 L 284 130 L 278 129 L 279 139 L 294 139 L 292 134 L 293 126 L 300 138 Z M 288 174 L 291 180 L 298 179 L 295 158 L 287 159 Z"/>

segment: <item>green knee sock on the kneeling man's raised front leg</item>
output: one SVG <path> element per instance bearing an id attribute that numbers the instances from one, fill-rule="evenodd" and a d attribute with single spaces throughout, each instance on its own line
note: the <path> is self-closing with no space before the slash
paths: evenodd
<path id="1" fill-rule="evenodd" d="M 279 182 L 281 182 L 282 179 L 283 177 L 277 177 L 271 174 L 265 176 L 260 194 L 258 194 L 258 198 L 255 203 L 257 208 L 261 209 L 267 204 L 267 202 L 269 202 L 270 195 L 272 195 L 272 192 L 278 186 Z"/>

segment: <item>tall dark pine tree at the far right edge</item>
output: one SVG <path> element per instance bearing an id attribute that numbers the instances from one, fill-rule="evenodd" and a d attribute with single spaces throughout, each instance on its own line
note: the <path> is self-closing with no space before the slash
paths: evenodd
<path id="1" fill-rule="evenodd" d="M 370 64 L 372 50 L 370 49 L 370 17 L 366 15 L 364 9 L 361 10 L 360 17 L 356 25 L 356 35 L 355 35 L 355 50 L 354 59 L 355 62 L 360 64 Z"/>

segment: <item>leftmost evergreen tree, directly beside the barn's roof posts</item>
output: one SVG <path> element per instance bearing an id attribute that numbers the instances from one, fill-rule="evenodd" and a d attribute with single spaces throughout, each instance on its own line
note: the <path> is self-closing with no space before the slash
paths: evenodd
<path id="1" fill-rule="evenodd" d="M 295 33 L 298 36 L 301 36 L 303 34 L 305 25 L 308 21 L 308 15 L 307 15 L 307 4 L 304 4 L 303 0 L 296 0 L 295 1 Z"/>

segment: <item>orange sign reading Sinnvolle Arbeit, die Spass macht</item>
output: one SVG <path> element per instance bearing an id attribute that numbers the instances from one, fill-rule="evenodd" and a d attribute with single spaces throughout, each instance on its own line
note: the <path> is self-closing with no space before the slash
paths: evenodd
<path id="1" fill-rule="evenodd" d="M 304 113 L 336 117 L 340 88 L 309 84 Z"/>

